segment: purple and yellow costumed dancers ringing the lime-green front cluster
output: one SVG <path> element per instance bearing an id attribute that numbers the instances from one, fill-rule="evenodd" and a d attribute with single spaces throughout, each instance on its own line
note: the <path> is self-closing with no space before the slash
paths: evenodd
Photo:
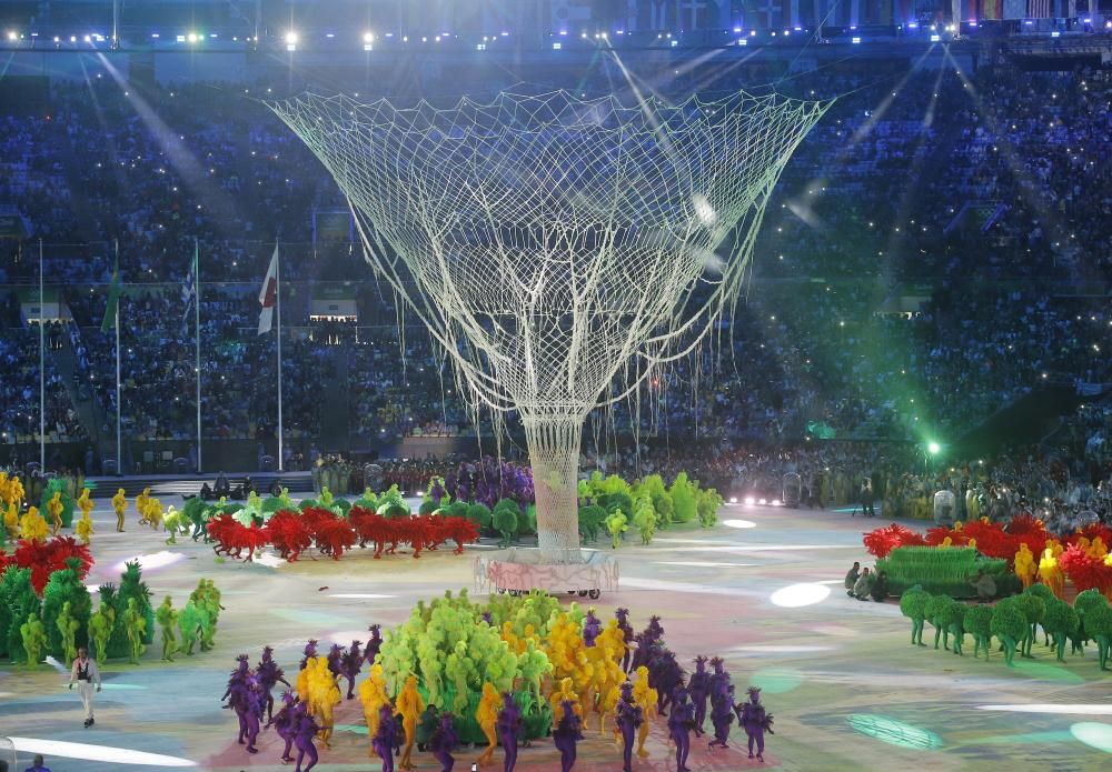
<path id="1" fill-rule="evenodd" d="M 735 689 L 721 658 L 697 656 L 694 672 L 685 678 L 675 654 L 664 645 L 664 629 L 658 616 L 651 618 L 645 630 L 634 634 L 627 610 L 617 609 L 615 621 L 608 628 L 615 626 L 625 633 L 625 640 L 636 645 L 624 646 L 618 652 L 616 666 L 622 670 L 624 681 L 614 690 L 617 693 L 612 699 L 588 690 L 584 690 L 580 699 L 570 678 L 560 679 L 548 690 L 547 702 L 553 715 L 550 731 L 563 772 L 575 765 L 589 712 L 598 713 L 600 732 L 606 715 L 613 718 L 624 772 L 633 771 L 635 753 L 642 758 L 648 755 L 644 743 L 651 721 L 656 716 L 667 719 L 677 772 L 687 772 L 691 735 L 705 734 L 708 716 L 713 726 L 708 749 L 728 748 L 731 726 L 736 720 L 748 739 L 748 758 L 764 761 L 764 735 L 773 732 L 773 716 L 761 703 L 759 689 L 749 686 L 747 699 L 735 702 Z M 600 621 L 588 612 L 583 620 L 584 640 L 596 640 L 600 631 Z M 384 772 L 394 772 L 395 755 L 399 756 L 397 763 L 403 770 L 411 769 L 415 746 L 418 751 L 430 752 L 443 772 L 451 772 L 453 754 L 459 745 L 455 724 L 461 716 L 435 704 L 426 705 L 417 676 L 413 674 L 399 684 L 391 699 L 383 666 L 375 662 L 381 644 L 378 625 L 371 625 L 366 645 L 361 641 L 353 642 L 347 649 L 335 644 L 324 656 L 318 654 L 317 641 L 310 640 L 305 646 L 296 685 L 285 679 L 270 646 L 264 649 L 254 670 L 248 656 L 241 654 L 224 695 L 226 708 L 234 710 L 239 719 L 238 742 L 245 744 L 248 752 L 256 753 L 259 732 L 274 726 L 285 741 L 282 762 L 295 762 L 296 772 L 308 772 L 317 763 L 316 742 L 328 746 L 331 741 L 334 710 L 341 702 L 341 684 L 346 681 L 347 699 L 353 699 L 358 691 L 370 736 L 370 753 L 380 759 Z M 364 663 L 370 665 L 370 672 L 356 690 L 355 681 Z M 275 713 L 272 691 L 279 683 L 285 684 L 287 691 Z M 473 718 L 488 743 L 476 763 L 479 766 L 493 763 L 500 744 L 503 770 L 512 772 L 517 763 L 518 746 L 525 739 L 522 709 L 514 694 L 499 693 L 493 684 L 484 683 Z M 295 749 L 296 759 L 291 755 Z"/>

